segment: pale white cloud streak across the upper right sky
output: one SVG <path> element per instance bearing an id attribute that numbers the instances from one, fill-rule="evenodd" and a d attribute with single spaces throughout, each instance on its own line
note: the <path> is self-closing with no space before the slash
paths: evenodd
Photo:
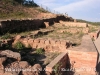
<path id="1" fill-rule="evenodd" d="M 60 6 L 55 8 L 57 11 L 61 12 L 73 12 L 73 11 L 87 11 L 88 9 L 95 8 L 95 4 L 98 0 L 80 0 L 68 5 Z M 100 2 L 100 1 L 99 1 Z"/>

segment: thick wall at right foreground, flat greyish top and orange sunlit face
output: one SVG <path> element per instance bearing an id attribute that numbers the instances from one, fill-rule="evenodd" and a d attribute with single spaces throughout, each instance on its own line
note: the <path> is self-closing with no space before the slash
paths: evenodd
<path id="1" fill-rule="evenodd" d="M 82 38 L 79 47 L 70 48 L 67 51 L 76 72 L 82 75 L 95 75 L 98 52 L 89 35 Z"/>

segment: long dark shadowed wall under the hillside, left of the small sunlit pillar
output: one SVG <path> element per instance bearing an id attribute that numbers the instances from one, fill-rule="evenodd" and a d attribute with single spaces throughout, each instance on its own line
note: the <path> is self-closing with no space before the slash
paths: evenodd
<path id="1" fill-rule="evenodd" d="M 42 20 L 7 20 L 1 22 L 1 33 L 22 32 L 38 29 L 43 25 Z"/>

